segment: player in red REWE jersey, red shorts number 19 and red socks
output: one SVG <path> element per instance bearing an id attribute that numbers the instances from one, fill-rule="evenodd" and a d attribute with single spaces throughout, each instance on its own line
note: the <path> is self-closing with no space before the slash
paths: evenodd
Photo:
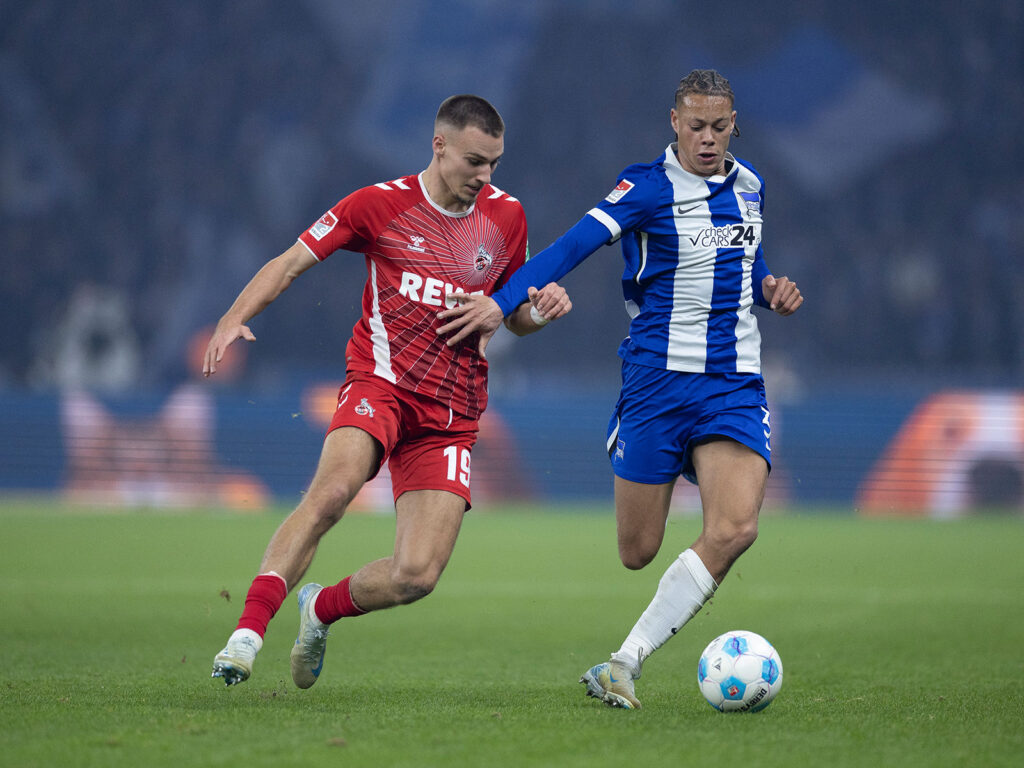
<path id="1" fill-rule="evenodd" d="M 455 547 L 470 505 L 470 457 L 487 402 L 487 364 L 475 340 L 449 347 L 436 313 L 452 293 L 489 295 L 527 258 L 519 202 L 490 184 L 504 151 L 501 116 L 478 96 L 445 99 L 434 122 L 433 158 L 422 173 L 358 189 L 267 262 L 217 324 L 204 361 L 216 372 L 245 325 L 299 274 L 337 250 L 366 254 L 362 316 L 346 349 L 346 379 L 319 464 L 298 507 L 266 548 L 238 628 L 216 655 L 227 685 L 252 674 L 267 624 L 312 561 L 321 538 L 384 462 L 395 498 L 390 557 L 337 585 L 298 592 L 292 679 L 316 682 L 328 627 L 343 616 L 428 595 Z M 506 321 L 522 336 L 571 308 L 564 289 L 531 289 Z"/>

